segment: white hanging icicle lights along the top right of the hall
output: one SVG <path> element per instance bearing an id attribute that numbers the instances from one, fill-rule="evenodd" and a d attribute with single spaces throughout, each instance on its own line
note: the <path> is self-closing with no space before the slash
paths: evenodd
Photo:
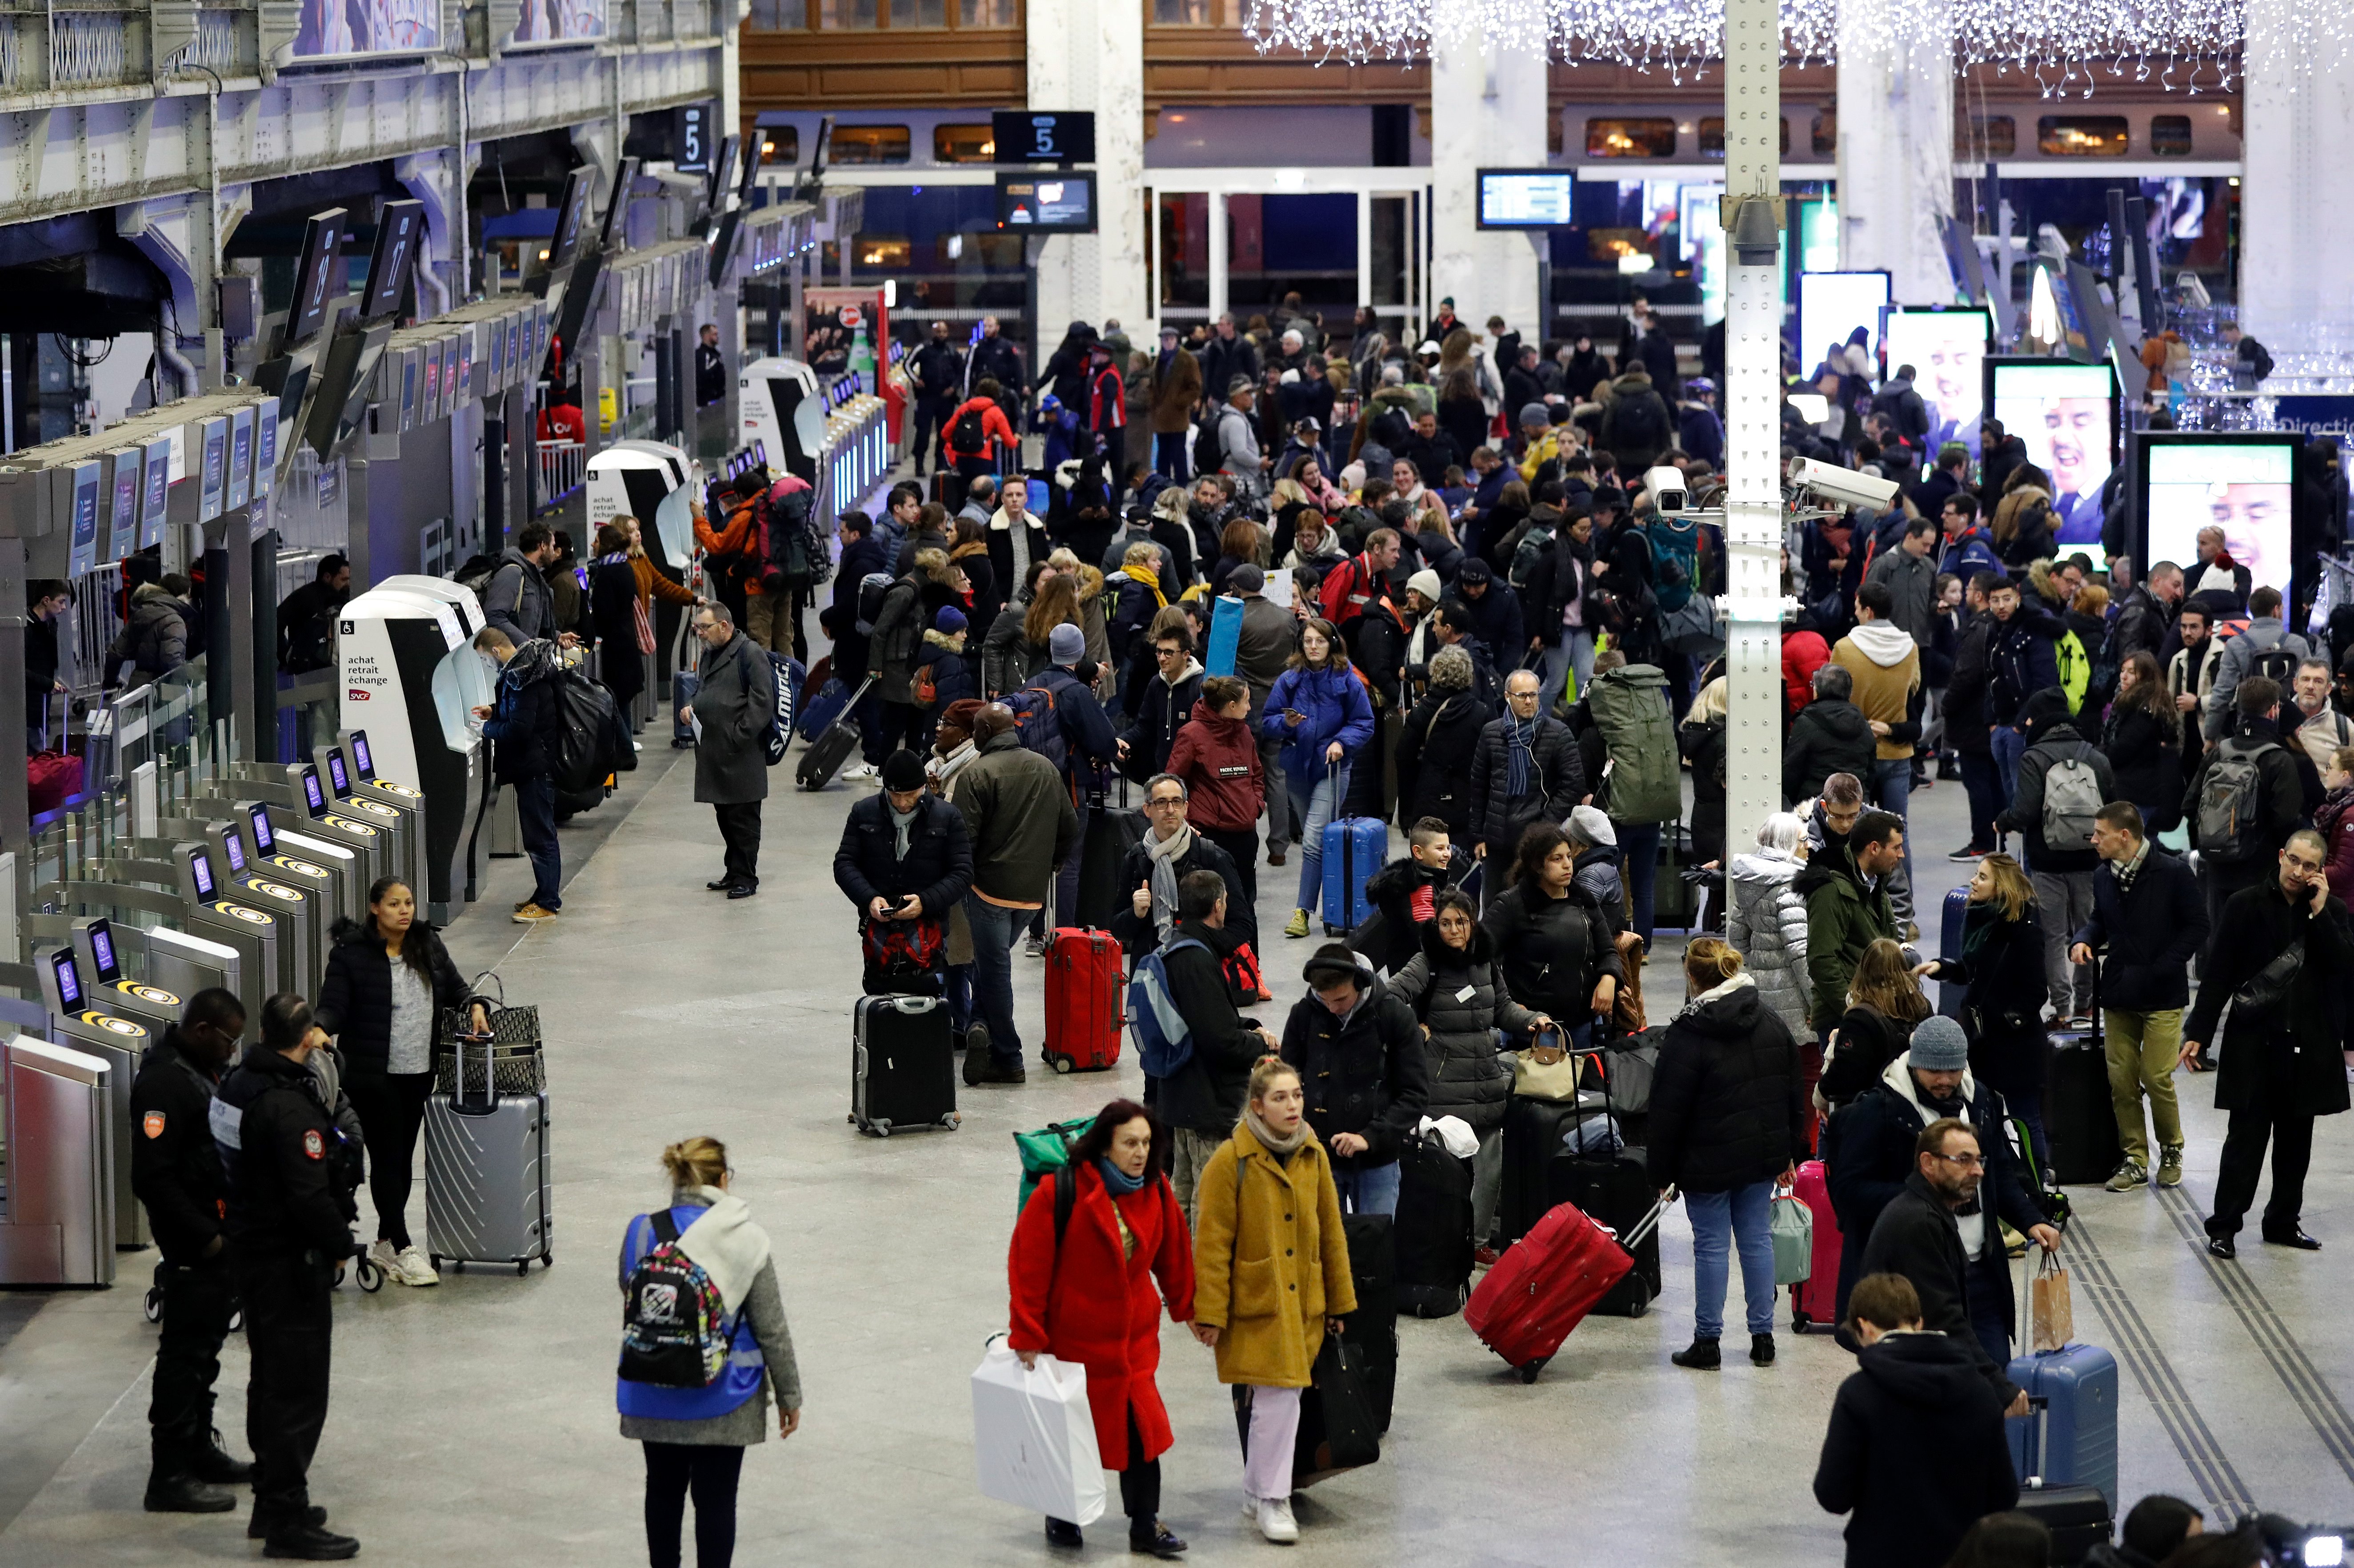
<path id="1" fill-rule="evenodd" d="M 1850 0 L 1853 2 L 1853 0 Z M 1791 64 L 1838 57 L 1838 0 L 1782 0 Z M 2102 80 L 2161 80 L 2182 92 L 2236 85 L 2257 64 L 2328 64 L 2354 33 L 2340 0 L 1869 0 L 1867 47 L 1904 61 L 1951 49 L 1959 66 L 2034 78 L 2046 97 Z M 1434 40 L 1544 49 L 1556 59 L 1702 78 L 1723 54 L 1723 0 L 1250 0 L 1259 52 L 1339 61 L 1424 59 Z"/>

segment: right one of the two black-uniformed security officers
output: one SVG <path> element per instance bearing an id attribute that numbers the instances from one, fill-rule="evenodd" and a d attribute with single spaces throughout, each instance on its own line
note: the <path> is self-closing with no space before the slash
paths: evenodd
<path id="1" fill-rule="evenodd" d="M 334 1269 L 358 1248 L 353 1189 L 360 1149 L 334 1125 L 308 1057 L 327 1036 L 311 1003 L 261 1003 L 261 1043 L 221 1083 L 214 1135 L 228 1170 L 228 1241 L 245 1297 L 245 1441 L 254 1450 L 254 1519 L 264 1556 L 339 1561 L 360 1552 L 311 1507 L 308 1471 L 327 1424 Z"/>

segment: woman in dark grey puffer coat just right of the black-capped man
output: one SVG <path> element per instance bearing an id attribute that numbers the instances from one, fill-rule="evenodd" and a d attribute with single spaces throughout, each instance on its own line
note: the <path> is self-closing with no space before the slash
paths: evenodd
<path id="1" fill-rule="evenodd" d="M 1511 1102 L 1511 1057 L 1497 1052 L 1495 1031 L 1530 1034 L 1549 1029 L 1551 1019 L 1511 1001 L 1495 968 L 1495 944 L 1469 897 L 1448 888 L 1434 904 L 1436 913 L 1422 925 L 1415 956 L 1389 979 L 1389 994 L 1415 1010 L 1431 1052 L 1424 1114 L 1462 1116 L 1478 1132 L 1471 1236 L 1485 1248 L 1504 1187 L 1504 1107 Z"/>

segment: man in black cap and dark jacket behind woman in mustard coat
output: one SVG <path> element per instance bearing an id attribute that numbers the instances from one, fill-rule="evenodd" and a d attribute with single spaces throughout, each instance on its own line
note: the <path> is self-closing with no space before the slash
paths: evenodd
<path id="1" fill-rule="evenodd" d="M 1396 1215 L 1398 1149 L 1431 1097 L 1422 1026 L 1346 942 L 1318 946 L 1302 977 L 1309 996 L 1283 1024 L 1283 1059 L 1306 1085 L 1309 1125 L 1346 1210 Z"/>

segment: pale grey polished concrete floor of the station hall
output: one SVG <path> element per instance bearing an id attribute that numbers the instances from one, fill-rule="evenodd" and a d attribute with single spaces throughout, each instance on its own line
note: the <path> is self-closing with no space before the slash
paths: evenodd
<path id="1" fill-rule="evenodd" d="M 967 1375 L 1005 1323 L 1015 1205 L 1010 1132 L 1135 1095 L 1111 1074 L 1036 1076 L 965 1092 L 953 1132 L 866 1140 L 845 1125 L 850 909 L 829 857 L 852 793 L 779 793 L 767 808 L 763 895 L 723 902 L 711 812 L 692 770 L 652 768 L 607 803 L 610 833 L 567 888 L 563 918 L 518 932 L 504 906 L 520 864 L 461 918 L 466 968 L 497 963 L 506 994 L 541 1008 L 556 1099 L 558 1264 L 530 1278 L 447 1274 L 337 1302 L 334 1406 L 313 1495 L 365 1540 L 363 1561 L 523 1566 L 643 1561 L 640 1457 L 614 1431 L 614 1245 L 664 1194 L 661 1144 L 711 1132 L 777 1243 L 807 1389 L 805 1424 L 744 1467 L 746 1563 L 1040 1563 L 1038 1521 L 984 1500 L 972 1474 Z M 786 775 L 779 772 L 782 782 Z M 1954 885 L 1961 791 L 1916 796 L 1923 902 Z M 581 829 L 591 819 L 581 819 Z M 1295 862 L 1297 866 L 1297 862 Z M 1262 871 L 1262 928 L 1290 909 L 1290 876 Z M 1302 942 L 1269 942 L 1295 996 Z M 1676 994 L 1662 942 L 1653 996 Z M 1036 961 L 1017 958 L 1024 1029 L 1040 1017 Z M 1036 1036 L 1033 1036 L 1036 1045 Z M 2173 1490 L 2354 1519 L 2354 1375 L 2345 1311 L 2354 1257 L 2349 1121 L 2323 1123 L 2307 1227 L 2330 1245 L 2248 1245 L 2239 1264 L 2196 1248 L 2220 1116 L 2185 1081 L 2189 1182 L 2180 1196 L 2083 1189 L 2072 1234 L 2079 1333 L 2126 1363 L 2123 1493 Z M 365 1203 L 363 1203 L 365 1208 Z M 421 1231 L 424 1194 L 410 1224 Z M 1782 1335 L 1782 1361 L 1683 1373 L 1690 1250 L 1667 1227 L 1667 1295 L 1638 1321 L 1594 1318 L 1535 1387 L 1462 1318 L 1401 1326 L 1396 1427 L 1377 1467 L 1332 1479 L 1299 1509 L 1292 1552 L 1318 1563 L 1730 1563 L 1838 1561 L 1841 1521 L 1808 1490 L 1824 1410 L 1848 1356 Z M 242 1519 L 139 1511 L 153 1330 L 139 1316 L 148 1257 L 111 1293 L 59 1295 L 0 1344 L 0 1568 L 193 1563 L 257 1549 Z M 0 1333 L 24 1316 L 0 1309 Z M 1163 1333 L 1161 1389 L 1177 1427 L 1165 1516 L 1193 1561 L 1264 1559 L 1236 1514 L 1233 1420 L 1210 1358 Z M 221 1373 L 221 1427 L 242 1448 L 242 1347 Z M 1118 1552 L 1118 1521 L 1095 1554 Z"/>

